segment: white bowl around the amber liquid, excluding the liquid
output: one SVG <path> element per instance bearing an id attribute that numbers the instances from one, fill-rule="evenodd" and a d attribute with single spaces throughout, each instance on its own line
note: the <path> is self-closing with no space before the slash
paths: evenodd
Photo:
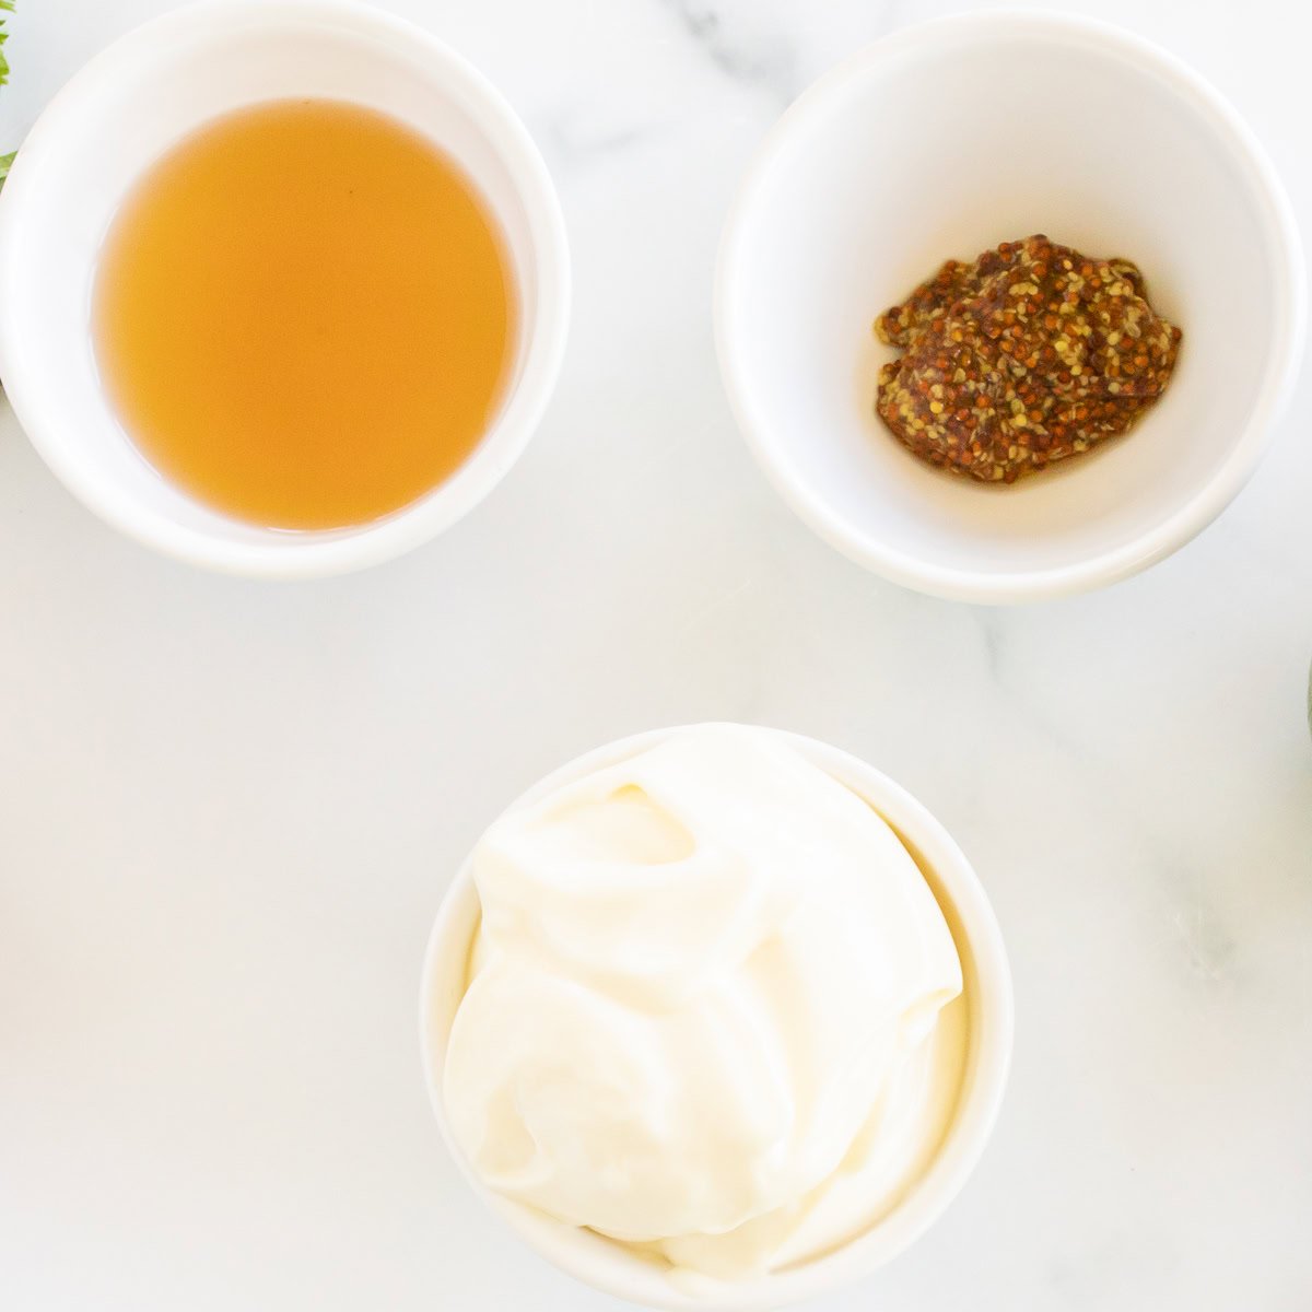
<path id="1" fill-rule="evenodd" d="M 202 123 L 294 96 L 367 105 L 441 146 L 499 220 L 521 307 L 512 380 L 474 454 L 405 509 L 332 531 L 241 523 L 165 482 L 101 390 L 89 325 L 101 241 L 142 172 Z M 0 378 L 33 445 L 77 497 L 123 533 L 184 560 L 307 577 L 363 568 L 426 542 L 514 464 L 559 371 L 569 258 L 560 206 L 527 130 L 441 42 L 349 0 L 210 0 L 129 33 L 51 101 L 0 198 Z"/>

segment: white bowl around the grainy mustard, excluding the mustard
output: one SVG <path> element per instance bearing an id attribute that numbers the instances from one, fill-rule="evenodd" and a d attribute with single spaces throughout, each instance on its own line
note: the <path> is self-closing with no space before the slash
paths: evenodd
<path id="1" fill-rule="evenodd" d="M 875 417 L 893 353 L 871 321 L 1034 232 L 1136 261 L 1185 336 L 1126 438 L 988 487 Z M 1207 83 L 1099 22 L 987 12 L 879 41 L 789 109 L 724 232 L 716 340 L 752 450 L 820 537 L 908 588 L 1019 602 L 1124 579 L 1224 509 L 1288 399 L 1304 299 L 1288 201 Z"/>

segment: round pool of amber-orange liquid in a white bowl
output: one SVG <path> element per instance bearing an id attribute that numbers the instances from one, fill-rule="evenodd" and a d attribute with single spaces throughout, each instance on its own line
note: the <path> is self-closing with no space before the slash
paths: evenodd
<path id="1" fill-rule="evenodd" d="M 375 520 L 446 479 L 491 424 L 516 336 L 472 185 L 336 101 L 244 109 L 165 155 L 110 227 L 92 318 L 151 464 L 282 529 Z"/>

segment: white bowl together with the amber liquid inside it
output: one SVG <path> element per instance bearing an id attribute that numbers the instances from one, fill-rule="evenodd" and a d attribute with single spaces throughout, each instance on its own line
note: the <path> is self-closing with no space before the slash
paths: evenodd
<path id="1" fill-rule="evenodd" d="M 274 577 L 378 563 L 478 504 L 568 315 L 522 123 L 349 0 L 210 0 L 93 59 L 20 151 L 0 272 L 0 377 L 70 489 Z"/>

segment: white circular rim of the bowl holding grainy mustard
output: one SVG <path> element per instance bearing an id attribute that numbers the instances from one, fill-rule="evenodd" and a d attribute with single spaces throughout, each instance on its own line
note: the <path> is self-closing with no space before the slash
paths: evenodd
<path id="1" fill-rule="evenodd" d="M 1258 383 L 1248 421 L 1228 454 L 1198 492 L 1166 518 L 1132 541 L 1086 559 L 1043 569 L 1004 573 L 932 564 L 869 535 L 838 516 L 829 502 L 803 487 L 757 421 L 745 386 L 747 370 L 735 344 L 735 287 L 743 234 L 754 201 L 779 155 L 828 101 L 849 83 L 878 76 L 882 66 L 909 52 L 933 51 L 963 38 L 1038 35 L 1080 41 L 1106 58 L 1151 72 L 1169 87 L 1221 140 L 1242 167 L 1271 256 L 1273 349 Z M 1043 601 L 1118 583 L 1165 559 L 1206 529 L 1242 491 L 1274 437 L 1303 359 L 1307 328 L 1303 245 L 1288 195 L 1261 142 L 1228 100 L 1183 59 L 1156 42 L 1099 18 L 1077 14 L 989 9 L 949 14 L 901 28 L 879 38 L 823 73 L 785 110 L 757 147 L 729 207 L 716 255 L 712 315 L 720 379 L 729 408 L 766 479 L 792 512 L 850 560 L 904 588 L 950 601 L 1006 605 Z"/>

